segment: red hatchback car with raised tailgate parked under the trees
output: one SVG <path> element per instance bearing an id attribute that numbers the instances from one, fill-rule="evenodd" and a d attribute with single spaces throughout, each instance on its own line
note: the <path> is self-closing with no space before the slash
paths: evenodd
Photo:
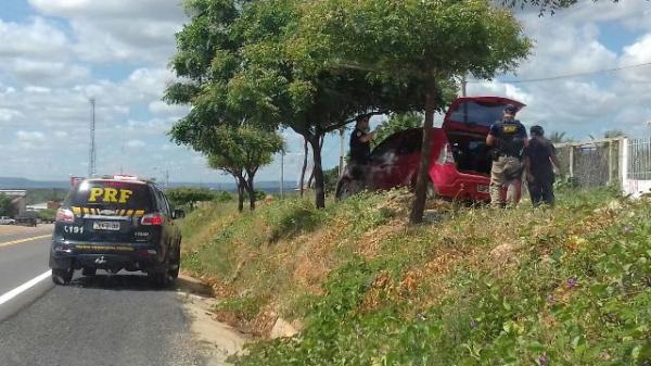
<path id="1" fill-rule="evenodd" d="M 507 104 L 523 103 L 501 97 L 458 98 L 448 109 L 441 128 L 432 131 L 430 195 L 450 200 L 489 202 L 492 156 L 486 146 L 490 126 L 502 118 Z M 342 199 L 362 189 L 413 188 L 422 147 L 422 129 L 396 132 L 371 153 L 363 172 L 347 167 L 336 187 Z M 520 185 L 518 185 L 520 187 Z M 502 194 L 506 194 L 502 192 Z M 520 192 L 516 192 L 520 197 Z"/>

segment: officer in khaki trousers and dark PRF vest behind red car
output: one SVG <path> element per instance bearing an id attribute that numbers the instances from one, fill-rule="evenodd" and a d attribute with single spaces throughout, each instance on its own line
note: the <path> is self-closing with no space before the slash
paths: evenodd
<path id="1" fill-rule="evenodd" d="M 495 207 L 505 203 L 514 206 L 518 202 L 515 186 L 522 175 L 522 154 L 527 144 L 526 129 L 515 119 L 518 108 L 507 105 L 503 118 L 490 126 L 486 144 L 493 148 L 490 169 L 490 204 Z M 501 188 L 507 187 L 507 202 L 501 197 Z"/>

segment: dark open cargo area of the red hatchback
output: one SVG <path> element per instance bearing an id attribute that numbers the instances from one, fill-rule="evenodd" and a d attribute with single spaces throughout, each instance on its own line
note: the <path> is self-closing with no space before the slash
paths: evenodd
<path id="1" fill-rule="evenodd" d="M 490 148 L 486 146 L 486 136 L 448 131 L 448 141 L 452 147 L 457 169 L 461 173 L 490 175 L 493 159 Z"/>

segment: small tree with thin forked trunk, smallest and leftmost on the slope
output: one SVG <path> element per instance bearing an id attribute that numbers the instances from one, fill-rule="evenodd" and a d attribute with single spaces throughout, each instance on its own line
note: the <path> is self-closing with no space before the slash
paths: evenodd
<path id="1" fill-rule="evenodd" d="M 238 185 L 238 209 L 244 209 L 248 197 L 250 209 L 255 209 L 254 178 L 258 169 L 271 163 L 273 154 L 283 149 L 283 139 L 275 131 L 251 127 L 214 127 L 197 147 L 208 156 L 208 165 L 230 174 Z"/>

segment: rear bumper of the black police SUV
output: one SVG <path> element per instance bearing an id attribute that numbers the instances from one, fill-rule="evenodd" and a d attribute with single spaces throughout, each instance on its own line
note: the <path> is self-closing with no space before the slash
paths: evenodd
<path id="1" fill-rule="evenodd" d="M 159 270 L 161 254 L 150 243 L 53 241 L 50 268 Z"/>

